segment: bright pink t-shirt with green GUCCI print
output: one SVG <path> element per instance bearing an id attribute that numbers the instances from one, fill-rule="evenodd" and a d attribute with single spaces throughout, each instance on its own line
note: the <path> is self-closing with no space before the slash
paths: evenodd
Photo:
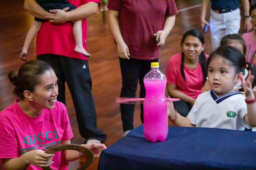
<path id="1" fill-rule="evenodd" d="M 0 112 L 0 158 L 19 157 L 37 149 L 45 151 L 73 137 L 64 104 L 57 101 L 53 109 L 43 109 L 38 117 L 30 117 L 18 101 L 20 99 Z M 56 152 L 52 161 L 52 169 L 68 169 L 61 152 Z M 42 169 L 30 165 L 28 170 Z"/>

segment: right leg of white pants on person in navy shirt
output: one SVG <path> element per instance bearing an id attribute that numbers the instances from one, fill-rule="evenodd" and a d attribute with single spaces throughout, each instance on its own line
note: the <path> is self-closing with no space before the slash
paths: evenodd
<path id="1" fill-rule="evenodd" d="M 224 13 L 225 35 L 238 34 L 240 29 L 241 15 L 240 9 L 237 8 L 234 11 Z"/>

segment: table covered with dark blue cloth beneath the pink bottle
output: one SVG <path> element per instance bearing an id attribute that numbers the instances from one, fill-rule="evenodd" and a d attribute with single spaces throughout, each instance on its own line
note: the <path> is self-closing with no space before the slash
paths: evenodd
<path id="1" fill-rule="evenodd" d="M 167 139 L 147 141 L 143 124 L 103 150 L 98 170 L 256 169 L 256 133 L 168 127 Z"/>

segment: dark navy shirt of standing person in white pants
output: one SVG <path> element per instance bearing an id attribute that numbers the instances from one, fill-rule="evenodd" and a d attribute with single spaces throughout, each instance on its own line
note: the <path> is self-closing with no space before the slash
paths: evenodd
<path id="1" fill-rule="evenodd" d="M 238 0 L 211 0 L 211 8 L 213 11 L 236 10 L 238 7 Z"/>

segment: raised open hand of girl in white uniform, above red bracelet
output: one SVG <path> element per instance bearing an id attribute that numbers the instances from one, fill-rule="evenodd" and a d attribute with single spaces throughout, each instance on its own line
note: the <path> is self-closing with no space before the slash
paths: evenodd
<path id="1" fill-rule="evenodd" d="M 253 94 L 253 90 L 252 90 L 252 82 L 253 82 L 253 75 L 251 73 L 251 70 L 248 71 L 248 75 L 246 78 L 246 81 L 243 78 L 242 74 L 239 74 L 239 78 L 242 82 L 242 86 L 244 89 L 244 94 L 246 97 L 251 97 L 252 99 L 255 99 L 254 94 Z"/>

